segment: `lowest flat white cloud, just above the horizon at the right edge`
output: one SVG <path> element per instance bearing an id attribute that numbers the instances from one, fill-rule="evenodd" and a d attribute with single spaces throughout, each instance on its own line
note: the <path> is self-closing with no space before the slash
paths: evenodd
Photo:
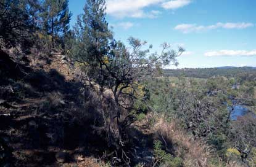
<path id="1" fill-rule="evenodd" d="M 205 56 L 256 56 L 256 50 L 218 50 L 205 52 Z"/>

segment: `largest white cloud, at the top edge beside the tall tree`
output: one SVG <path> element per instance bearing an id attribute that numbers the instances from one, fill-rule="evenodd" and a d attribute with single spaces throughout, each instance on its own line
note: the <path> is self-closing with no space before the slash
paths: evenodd
<path id="1" fill-rule="evenodd" d="M 164 9 L 178 9 L 188 5 L 191 0 L 107 0 L 107 14 L 113 17 L 133 17 L 133 18 L 155 18 L 160 15 L 158 10 L 145 12 L 144 8 L 149 6 L 162 6 Z"/>

